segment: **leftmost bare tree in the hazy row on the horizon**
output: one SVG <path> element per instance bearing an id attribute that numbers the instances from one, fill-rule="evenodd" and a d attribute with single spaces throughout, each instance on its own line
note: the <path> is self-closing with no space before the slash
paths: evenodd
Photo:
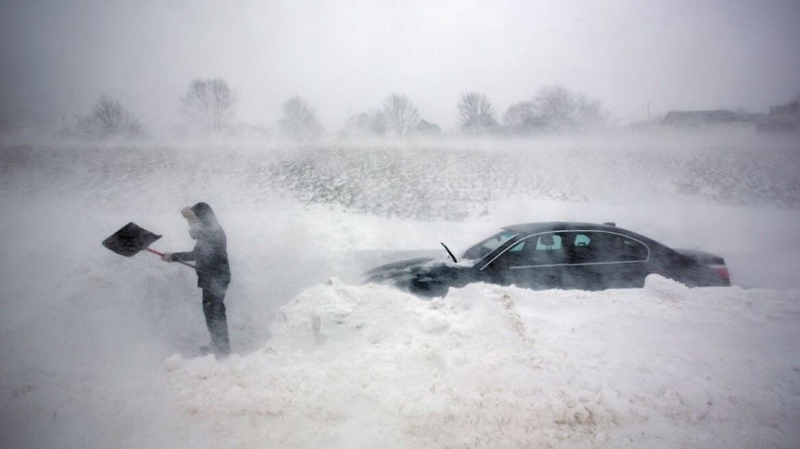
<path id="1" fill-rule="evenodd" d="M 78 133 L 90 139 L 141 137 L 142 124 L 122 105 L 105 93 L 94 103 L 92 112 L 78 117 Z"/>

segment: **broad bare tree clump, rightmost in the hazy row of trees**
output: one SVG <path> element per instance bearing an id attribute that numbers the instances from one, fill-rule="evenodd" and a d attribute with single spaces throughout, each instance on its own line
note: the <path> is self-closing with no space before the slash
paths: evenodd
<path id="1" fill-rule="evenodd" d="M 539 89 L 533 102 L 537 115 L 550 127 L 586 127 L 608 120 L 599 100 L 559 86 Z"/>

